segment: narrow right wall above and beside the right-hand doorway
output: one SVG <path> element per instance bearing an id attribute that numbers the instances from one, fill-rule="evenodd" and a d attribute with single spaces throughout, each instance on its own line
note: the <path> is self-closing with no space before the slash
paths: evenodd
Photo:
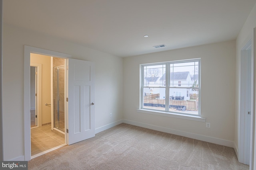
<path id="1" fill-rule="evenodd" d="M 253 28 L 256 27 L 256 4 L 250 12 L 244 26 L 242 27 L 237 39 L 236 39 L 236 116 L 235 116 L 235 135 L 234 145 L 238 150 L 238 137 L 239 137 L 239 116 L 240 116 L 240 66 L 241 66 L 241 49 L 252 38 Z M 255 84 L 255 82 L 254 82 Z M 256 156 L 254 156 L 256 158 Z"/>

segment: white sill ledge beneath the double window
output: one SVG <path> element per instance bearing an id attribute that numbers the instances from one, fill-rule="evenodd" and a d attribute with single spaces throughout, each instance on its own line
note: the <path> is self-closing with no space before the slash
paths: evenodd
<path id="1" fill-rule="evenodd" d="M 194 121 L 201 121 L 205 122 L 205 118 L 196 116 L 196 115 L 181 115 L 178 113 L 167 113 L 164 111 L 156 111 L 156 110 L 147 110 L 147 109 L 137 109 L 137 112 L 140 113 L 147 113 L 152 115 L 160 115 L 160 116 L 167 116 L 167 117 L 175 117 L 179 119 L 187 119 L 187 120 L 194 120 Z"/>

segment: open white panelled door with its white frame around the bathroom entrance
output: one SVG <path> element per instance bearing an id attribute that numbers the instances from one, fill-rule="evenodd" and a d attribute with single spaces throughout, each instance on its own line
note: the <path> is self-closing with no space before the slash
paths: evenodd
<path id="1" fill-rule="evenodd" d="M 95 105 L 94 105 L 94 78 L 95 65 L 90 61 L 71 59 L 71 55 L 24 46 L 24 160 L 28 161 L 31 156 L 30 131 L 30 55 L 40 54 L 66 59 L 66 98 L 65 98 L 65 143 L 83 141 L 95 136 Z M 52 75 L 53 73 L 51 73 Z M 53 87 L 53 86 L 50 86 Z M 48 90 L 53 91 L 53 90 Z M 53 96 L 53 95 L 51 95 Z M 47 101 L 48 102 L 48 101 Z M 41 102 L 42 103 L 42 102 Z M 44 103 L 43 105 L 49 103 Z M 51 105 L 53 101 L 51 100 Z M 51 106 L 50 105 L 50 106 Z M 49 106 L 49 105 L 48 105 Z M 53 107 L 50 107 L 53 108 Z M 53 117 L 51 119 L 53 122 Z M 52 123 L 51 123 L 52 124 Z M 49 125 L 48 125 L 49 126 Z M 56 129 L 51 127 L 51 129 Z M 60 145 L 62 147 L 66 144 Z M 57 147 L 58 148 L 58 147 Z M 53 149 L 56 149 L 53 148 Z M 52 149 L 52 150 L 53 150 Z M 42 152 L 42 154 L 48 152 Z M 51 150 L 50 150 L 51 151 Z M 38 155 L 39 156 L 39 155 Z"/>

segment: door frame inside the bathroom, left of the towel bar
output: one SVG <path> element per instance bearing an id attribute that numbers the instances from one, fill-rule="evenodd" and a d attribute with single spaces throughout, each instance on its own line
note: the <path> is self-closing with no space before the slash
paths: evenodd
<path id="1" fill-rule="evenodd" d="M 36 113 L 37 113 L 37 124 L 36 127 L 42 126 L 42 64 L 40 63 L 30 63 L 30 66 L 37 68 L 37 82 L 36 82 L 36 89 L 37 89 L 37 101 L 36 101 Z"/>

